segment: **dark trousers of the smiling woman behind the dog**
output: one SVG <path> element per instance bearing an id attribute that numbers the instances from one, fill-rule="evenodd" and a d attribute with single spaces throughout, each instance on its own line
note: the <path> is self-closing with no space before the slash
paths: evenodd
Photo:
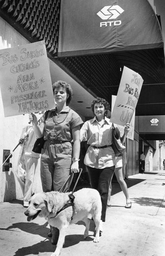
<path id="1" fill-rule="evenodd" d="M 101 220 L 105 222 L 106 205 L 109 185 L 111 183 L 115 165 L 104 169 L 96 169 L 87 166 L 91 187 L 99 191 L 102 203 Z"/>

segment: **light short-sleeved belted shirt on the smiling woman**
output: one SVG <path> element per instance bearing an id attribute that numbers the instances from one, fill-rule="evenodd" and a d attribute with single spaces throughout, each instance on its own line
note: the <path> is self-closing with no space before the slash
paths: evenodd
<path id="1" fill-rule="evenodd" d="M 90 167 L 103 169 L 115 165 L 115 153 L 112 146 L 94 148 L 95 146 L 112 145 L 112 123 L 105 117 L 99 124 L 96 117 L 86 121 L 80 130 L 80 141 L 87 141 L 88 147 L 84 163 Z"/>

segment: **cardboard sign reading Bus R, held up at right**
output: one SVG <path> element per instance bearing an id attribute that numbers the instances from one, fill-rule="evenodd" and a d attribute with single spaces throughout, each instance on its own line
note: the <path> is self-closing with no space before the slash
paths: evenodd
<path id="1" fill-rule="evenodd" d="M 143 78 L 124 67 L 110 121 L 124 126 L 130 123 L 142 89 Z"/>

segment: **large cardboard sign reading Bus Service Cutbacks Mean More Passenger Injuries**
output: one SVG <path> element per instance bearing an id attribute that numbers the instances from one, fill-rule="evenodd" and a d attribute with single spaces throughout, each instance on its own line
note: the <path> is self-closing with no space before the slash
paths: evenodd
<path id="1" fill-rule="evenodd" d="M 5 117 L 54 108 L 45 42 L 0 50 L 0 85 Z"/>

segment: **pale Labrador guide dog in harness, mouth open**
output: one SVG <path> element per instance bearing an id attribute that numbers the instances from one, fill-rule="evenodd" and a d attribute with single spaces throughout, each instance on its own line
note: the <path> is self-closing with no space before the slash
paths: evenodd
<path id="1" fill-rule="evenodd" d="M 28 216 L 28 221 L 34 220 L 37 216 L 44 217 L 50 226 L 59 229 L 57 247 L 51 256 L 60 255 L 65 241 L 66 229 L 69 224 L 77 223 L 78 221 L 85 222 L 84 239 L 88 237 L 90 226 L 89 214 L 92 215 L 96 225 L 96 234 L 93 242 L 99 242 L 99 223 L 102 206 L 98 191 L 92 188 L 82 188 L 74 192 L 75 199 L 73 205 L 61 211 L 70 200 L 69 194 L 57 191 L 37 193 L 31 198 L 30 205 L 24 212 Z M 54 240 L 53 236 L 54 234 L 52 234 L 52 241 Z"/>

